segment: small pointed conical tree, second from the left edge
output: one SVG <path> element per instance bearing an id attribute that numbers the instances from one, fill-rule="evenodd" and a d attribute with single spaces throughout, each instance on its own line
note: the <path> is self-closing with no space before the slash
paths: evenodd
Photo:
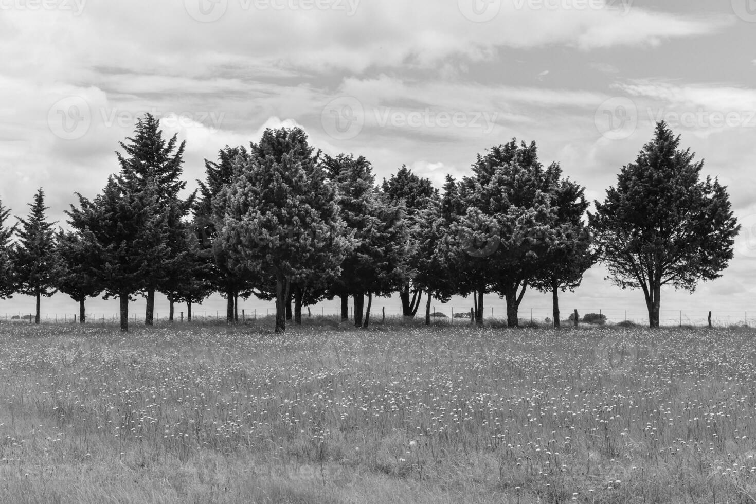
<path id="1" fill-rule="evenodd" d="M 21 226 L 18 243 L 14 250 L 14 267 L 17 272 L 18 290 L 36 298 L 35 323 L 39 323 L 39 305 L 42 296 L 49 298 L 55 293 L 54 271 L 56 265 L 53 225 L 46 221 L 45 192 L 40 187 L 34 203 L 28 203 L 31 212 L 26 219 L 17 217 Z"/>

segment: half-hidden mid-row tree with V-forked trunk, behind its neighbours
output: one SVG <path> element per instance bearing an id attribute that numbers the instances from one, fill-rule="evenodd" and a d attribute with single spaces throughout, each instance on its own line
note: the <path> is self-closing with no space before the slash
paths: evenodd
<path id="1" fill-rule="evenodd" d="M 428 222 L 421 219 L 423 211 L 438 201 L 438 190 L 428 178 L 420 178 L 415 175 L 411 169 L 403 165 L 395 175 L 387 181 L 383 179 L 383 193 L 388 196 L 389 200 L 399 205 L 402 203 L 407 215 L 407 225 L 410 228 L 411 247 L 407 251 L 407 261 L 418 274 L 422 265 L 429 265 L 432 258 L 432 247 L 420 247 L 420 227 L 428 230 Z M 424 215 L 423 218 L 428 218 Z M 427 239 L 427 236 L 425 237 Z M 420 307 L 420 298 L 422 298 L 423 286 L 417 283 L 417 279 L 407 279 L 399 290 L 401 299 L 401 310 L 404 317 L 414 317 L 417 314 L 417 308 Z M 427 318 L 427 317 L 426 317 Z"/>

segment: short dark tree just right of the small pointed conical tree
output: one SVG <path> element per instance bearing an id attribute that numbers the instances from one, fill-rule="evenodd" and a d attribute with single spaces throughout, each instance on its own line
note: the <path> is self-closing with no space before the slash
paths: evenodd
<path id="1" fill-rule="evenodd" d="M 98 249 L 82 235 L 58 230 L 55 239 L 57 264 L 54 286 L 79 303 L 79 323 L 85 323 L 84 302 L 102 292 L 102 283 L 92 264 L 98 261 Z"/>

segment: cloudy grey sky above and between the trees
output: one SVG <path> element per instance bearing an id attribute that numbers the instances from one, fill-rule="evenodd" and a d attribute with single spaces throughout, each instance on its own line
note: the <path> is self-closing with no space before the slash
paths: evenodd
<path id="1" fill-rule="evenodd" d="M 407 165 L 437 187 L 487 148 L 535 141 L 591 201 L 663 119 L 728 187 L 742 231 L 719 280 L 663 292 L 662 318 L 756 315 L 754 0 L 0 0 L 0 47 L 0 200 L 13 215 L 42 187 L 67 227 L 74 193 L 101 191 L 144 113 L 187 141 L 190 190 L 225 145 L 301 126 L 324 153 L 366 156 L 379 182 Z M 605 277 L 587 272 L 562 308 L 641 317 L 643 294 Z M 504 313 L 496 295 L 486 305 Z M 224 307 L 215 296 L 200 311 Z M 76 308 L 42 302 L 51 316 Z M 528 292 L 530 308 L 546 316 L 550 296 Z M 31 310 L 25 296 L 0 301 L 0 316 Z"/>

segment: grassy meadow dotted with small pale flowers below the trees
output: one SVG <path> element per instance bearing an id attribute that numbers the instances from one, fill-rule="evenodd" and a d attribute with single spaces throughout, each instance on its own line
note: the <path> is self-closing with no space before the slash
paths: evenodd
<path id="1" fill-rule="evenodd" d="M 0 502 L 756 502 L 754 343 L 0 324 Z"/>

